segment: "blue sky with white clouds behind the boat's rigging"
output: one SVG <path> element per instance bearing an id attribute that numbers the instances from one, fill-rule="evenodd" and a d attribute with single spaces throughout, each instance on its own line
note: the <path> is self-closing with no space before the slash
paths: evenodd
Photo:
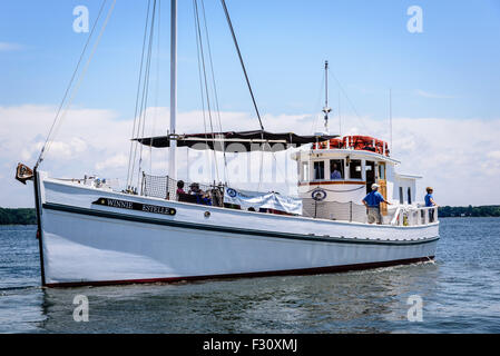
<path id="1" fill-rule="evenodd" d="M 500 204 L 500 1 L 226 2 L 267 130 L 315 130 L 329 60 L 332 134 L 389 140 L 391 90 L 399 170 L 422 175 L 420 186 L 433 186 L 440 205 Z M 13 179 L 16 165 L 35 165 L 87 41 L 89 33 L 73 29 L 75 8 L 88 9 L 91 28 L 101 3 L 0 3 L 1 207 L 33 206 L 31 186 Z M 204 0 L 204 6 L 223 128 L 257 129 L 220 2 Z M 409 30 L 409 22 L 410 29 L 415 23 L 412 7 L 421 9 L 421 32 Z M 50 175 L 96 174 L 120 181 L 126 176 L 146 9 L 145 0 L 117 0 L 41 166 Z M 179 1 L 178 22 L 178 132 L 202 132 L 193 1 Z M 98 29 L 101 23 L 102 18 Z M 169 127 L 166 0 L 159 1 L 158 33 L 146 128 L 151 135 Z M 148 171 L 166 174 L 164 151 L 144 155 L 150 158 Z M 186 158 L 180 176 L 204 160 L 198 152 L 179 156 Z M 293 192 L 294 170 L 284 171 Z"/>

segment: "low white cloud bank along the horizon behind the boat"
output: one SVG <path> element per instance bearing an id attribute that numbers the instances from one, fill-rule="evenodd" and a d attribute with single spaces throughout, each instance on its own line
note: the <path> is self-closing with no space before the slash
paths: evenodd
<path id="1" fill-rule="evenodd" d="M 13 179 L 13 171 L 18 161 L 30 166 L 35 164 L 53 115 L 52 107 L 0 107 L 0 167 L 2 167 L 0 206 L 32 206 L 31 189 L 19 185 Z M 146 136 L 166 134 L 169 127 L 167 108 L 149 109 Z M 313 118 L 312 115 L 265 115 L 263 120 L 266 130 L 269 131 L 308 135 L 313 131 Z M 220 119 L 223 130 L 258 129 L 258 122 L 253 115 L 222 112 Z M 217 120 L 214 121 L 215 129 L 218 130 Z M 343 121 L 344 134 L 389 139 L 386 122 L 366 117 L 363 118 L 363 126 L 352 125 L 359 122 L 356 118 L 345 117 Z M 124 182 L 131 126 L 131 119 L 119 119 L 118 113 L 114 111 L 70 110 L 41 168 L 55 177 L 82 177 L 86 174 L 96 174 L 104 178 L 120 178 Z M 204 132 L 202 112 L 180 112 L 178 132 Z M 441 205 L 499 204 L 500 191 L 497 188 L 500 177 L 499 132 L 500 119 L 394 118 L 393 157 L 402 161 L 399 167 L 401 172 L 424 176 L 421 185 L 433 186 L 435 198 Z M 255 169 L 254 165 L 259 160 L 259 155 L 258 157 L 252 155 L 254 156 L 249 162 L 252 169 Z M 192 152 L 187 157 L 186 150 L 179 149 L 179 175 L 186 172 L 196 156 L 197 154 Z M 283 156 L 277 156 L 278 161 Z M 144 148 L 143 157 L 143 168 L 151 169 L 157 175 L 167 171 L 167 150 Z M 220 157 L 218 159 L 220 160 Z M 296 172 L 288 168 L 286 171 L 278 170 L 277 176 L 286 175 L 288 181 L 293 182 Z M 268 171 L 265 174 L 269 176 Z M 257 188 L 257 185 L 254 186 Z"/>

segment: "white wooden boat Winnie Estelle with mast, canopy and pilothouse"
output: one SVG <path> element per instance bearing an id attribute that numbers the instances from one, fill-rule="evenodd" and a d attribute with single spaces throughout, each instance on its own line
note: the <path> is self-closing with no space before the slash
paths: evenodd
<path id="1" fill-rule="evenodd" d="M 173 135 L 137 140 L 170 147 L 174 157 L 177 146 L 190 147 L 197 140 L 210 140 L 209 149 L 216 149 L 215 136 L 222 147 L 232 142 L 227 132 L 175 135 L 175 14 L 173 0 Z M 329 112 L 325 109 L 326 117 Z M 96 178 L 57 179 L 39 169 L 41 159 L 32 176 L 18 169 L 23 172 L 19 178 L 35 182 L 42 284 L 55 287 L 316 274 L 434 258 L 439 221 L 430 220 L 429 210 L 435 208 L 415 202 L 418 177 L 396 174 L 399 162 L 389 156 L 384 142 L 380 146 L 378 140 L 372 145 L 364 140 L 365 146 L 359 146 L 359 137 L 342 140 L 327 135 L 290 135 L 284 139 L 264 130 L 256 135 L 233 136 L 243 145 L 304 145 L 305 149 L 294 155 L 302 214 L 207 206 L 179 201 L 183 199 L 175 194 L 154 197 L 145 189 L 137 194 L 116 191 Z M 170 164 L 175 178 L 175 160 Z M 334 165 L 341 176 L 331 179 Z M 382 225 L 367 224 L 364 207 L 360 208 L 373 182 L 380 184 L 385 198 L 393 202 L 391 209 L 383 207 Z"/>

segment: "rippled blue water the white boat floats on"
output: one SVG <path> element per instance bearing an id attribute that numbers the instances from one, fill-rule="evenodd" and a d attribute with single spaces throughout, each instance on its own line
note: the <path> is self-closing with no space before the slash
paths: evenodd
<path id="1" fill-rule="evenodd" d="M 0 333 L 500 333 L 500 219 L 442 219 L 437 261 L 317 276 L 40 288 L 35 227 L 0 227 Z M 89 300 L 77 323 L 75 296 Z M 410 296 L 423 301 L 410 322 Z"/>

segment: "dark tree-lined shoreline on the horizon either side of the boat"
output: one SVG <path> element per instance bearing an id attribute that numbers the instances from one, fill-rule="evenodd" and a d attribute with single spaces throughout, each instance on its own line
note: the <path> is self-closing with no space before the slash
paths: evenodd
<path id="1" fill-rule="evenodd" d="M 439 207 L 440 218 L 500 217 L 500 205 L 479 207 Z M 0 225 L 37 225 L 33 208 L 0 208 Z"/>

